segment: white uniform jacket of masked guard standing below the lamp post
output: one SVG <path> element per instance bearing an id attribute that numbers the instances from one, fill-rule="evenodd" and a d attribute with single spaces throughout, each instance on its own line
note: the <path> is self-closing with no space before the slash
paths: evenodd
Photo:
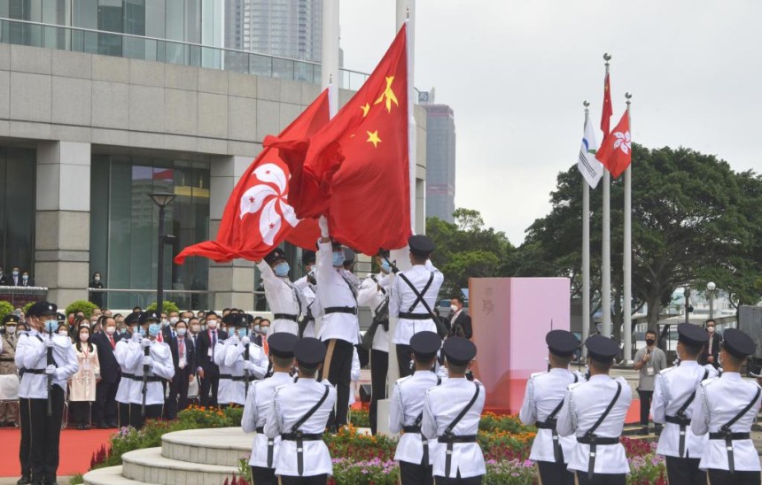
<path id="1" fill-rule="evenodd" d="M 167 343 L 152 341 L 149 357 L 152 358 L 152 366 L 148 370 L 149 377 L 172 379 L 175 377 L 175 364 L 172 361 L 172 352 Z M 132 384 L 129 393 L 129 402 L 143 404 L 143 347 L 138 344 L 130 347 L 126 359 L 128 373 L 135 375 L 136 381 Z M 164 386 L 160 381 L 148 381 L 145 404 L 164 404 Z"/>

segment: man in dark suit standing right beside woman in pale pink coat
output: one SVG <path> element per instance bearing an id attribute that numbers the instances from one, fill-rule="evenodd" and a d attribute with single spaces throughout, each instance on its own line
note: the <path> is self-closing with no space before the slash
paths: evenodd
<path id="1" fill-rule="evenodd" d="M 100 363 L 101 381 L 96 385 L 96 401 L 93 403 L 93 422 L 96 427 L 110 428 L 117 426 L 116 391 L 119 389 L 121 372 L 114 358 L 116 343 L 123 335 L 116 333 L 116 320 L 103 318 L 104 333 L 93 334 L 92 344 L 96 346 Z"/>

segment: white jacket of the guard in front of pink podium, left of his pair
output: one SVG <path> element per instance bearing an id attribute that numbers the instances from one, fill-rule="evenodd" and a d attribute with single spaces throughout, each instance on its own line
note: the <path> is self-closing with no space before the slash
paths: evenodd
<path id="1" fill-rule="evenodd" d="M 518 419 L 525 425 L 533 425 L 537 421 L 548 420 L 550 413 L 566 396 L 566 388 L 569 384 L 582 380 L 578 374 L 571 373 L 566 369 L 550 369 L 544 373 L 533 373 L 529 381 L 526 382 L 524 403 L 521 405 Z M 560 413 L 560 410 L 556 413 L 556 419 Z M 560 436 L 558 441 L 561 443 L 561 449 L 564 450 L 564 463 L 569 463 L 569 457 L 571 457 L 577 440 L 573 436 Z M 556 461 L 556 455 L 553 453 L 552 430 L 537 430 L 529 459 Z"/>

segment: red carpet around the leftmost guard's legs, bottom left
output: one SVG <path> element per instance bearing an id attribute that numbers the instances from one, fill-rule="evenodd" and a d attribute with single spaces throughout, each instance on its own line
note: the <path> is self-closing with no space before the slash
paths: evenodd
<path id="1" fill-rule="evenodd" d="M 61 431 L 60 461 L 58 476 L 69 476 L 75 473 L 85 473 L 90 467 L 93 452 L 101 445 L 108 443 L 109 437 L 116 429 L 90 429 L 78 431 L 65 429 Z M 21 474 L 19 465 L 19 442 L 21 432 L 15 428 L 0 428 L 0 477 L 18 477 Z"/>

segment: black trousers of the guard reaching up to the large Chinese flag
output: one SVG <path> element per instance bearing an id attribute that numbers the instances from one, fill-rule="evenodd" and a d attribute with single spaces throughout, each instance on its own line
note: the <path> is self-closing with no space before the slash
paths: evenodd
<path id="1" fill-rule="evenodd" d="M 331 418 L 328 420 L 328 427 L 335 429 L 346 425 L 354 345 L 346 340 L 332 338 L 325 341 L 325 346 L 327 351 L 318 380 L 323 381 L 327 374 L 328 381 L 336 386 L 336 411 L 331 412 Z"/>

